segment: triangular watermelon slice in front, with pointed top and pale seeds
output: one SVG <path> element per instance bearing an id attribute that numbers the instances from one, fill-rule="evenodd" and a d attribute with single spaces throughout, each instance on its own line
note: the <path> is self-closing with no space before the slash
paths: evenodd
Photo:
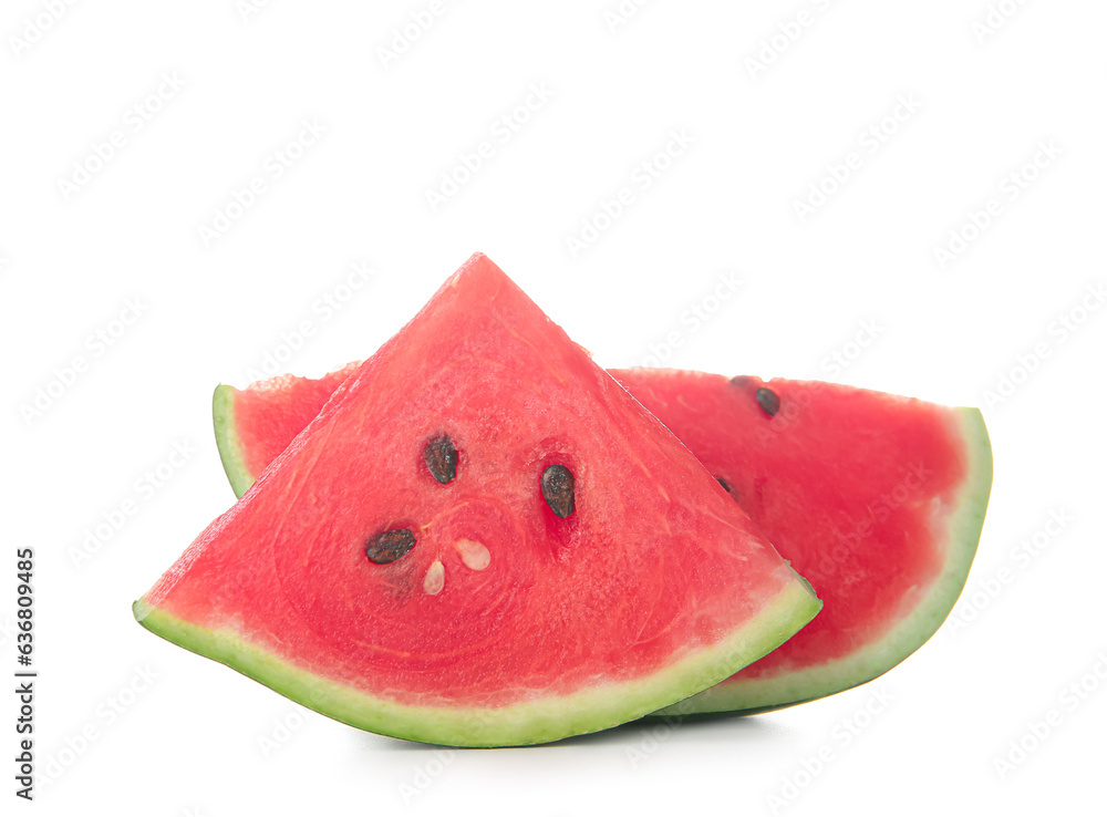
<path id="1" fill-rule="evenodd" d="M 331 717 L 496 746 L 673 704 L 819 607 L 700 462 L 478 255 L 134 609 Z"/>

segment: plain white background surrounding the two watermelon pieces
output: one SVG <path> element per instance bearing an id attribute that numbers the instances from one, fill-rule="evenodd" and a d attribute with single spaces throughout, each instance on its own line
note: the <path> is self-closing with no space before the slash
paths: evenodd
<path id="1" fill-rule="evenodd" d="M 1107 7 L 1005 0 L 985 35 L 983 0 L 656 0 L 613 30 L 615 0 L 467 0 L 385 65 L 380 49 L 428 2 L 278 0 L 245 19 L 234 0 L 77 2 L 56 20 L 49 6 L 0 13 L 0 496 L 9 548 L 38 555 L 35 738 L 55 776 L 29 808 L 773 814 L 776 796 L 795 815 L 1103 809 L 1107 681 L 1088 673 L 1107 671 L 1107 308 L 1080 310 L 1107 279 Z M 801 11 L 809 24 L 774 46 Z M 35 20 L 50 23 L 38 38 Z M 128 110 L 163 74 L 184 86 L 133 130 Z M 493 128 L 531 84 L 549 99 L 505 142 Z M 325 133 L 275 178 L 267 161 L 311 118 Z M 862 134 L 881 123 L 870 152 Z M 635 168 L 682 130 L 691 146 L 642 189 Z M 122 147 L 63 190 L 114 131 Z M 427 192 L 483 141 L 492 158 L 432 208 Z M 1021 170 L 1049 143 L 1047 167 Z M 831 188 L 827 166 L 850 153 L 859 167 L 801 219 L 796 201 Z M 256 176 L 267 192 L 206 244 L 199 228 Z M 567 237 L 623 187 L 633 203 L 575 256 Z M 968 214 L 990 198 L 1002 213 L 973 236 Z M 934 248 L 966 224 L 973 240 L 943 269 Z M 777 714 L 445 755 L 307 716 L 142 630 L 131 601 L 234 499 L 213 387 L 246 385 L 267 354 L 301 374 L 369 355 L 474 250 L 602 365 L 663 356 L 675 332 L 679 366 L 984 406 L 995 482 L 964 625 L 951 619 L 868 686 Z M 353 262 L 375 273 L 350 294 Z M 741 287 L 711 301 L 725 273 Z M 142 314 L 120 333 L 127 299 Z M 717 308 L 695 325 L 696 304 Z M 1064 330 L 1063 316 L 1082 322 Z M 282 351 L 303 321 L 313 335 Z M 876 340 L 860 350 L 865 322 Z M 97 330 L 116 331 L 110 347 Z M 51 385 L 77 355 L 86 370 Z M 1017 382 L 991 399 L 1003 376 Z M 39 389 L 60 396 L 32 416 Z M 175 444 L 187 462 L 136 487 Z M 74 563 L 127 499 L 136 513 Z M 1052 514 L 1072 518 L 1056 536 Z M 1016 558 L 1035 535 L 1041 552 Z M 8 673 L 13 557 L 4 570 Z M 1062 697 L 1082 680 L 1086 699 Z M 892 700 L 866 714 L 877 691 Z M 1001 779 L 995 758 L 1051 710 L 1061 725 Z M 848 745 L 847 724 L 862 725 Z"/>

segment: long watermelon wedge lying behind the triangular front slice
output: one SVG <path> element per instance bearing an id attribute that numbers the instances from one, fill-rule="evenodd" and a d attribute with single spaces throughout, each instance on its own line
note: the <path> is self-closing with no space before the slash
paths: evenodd
<path id="1" fill-rule="evenodd" d="M 239 494 L 318 414 L 328 397 L 320 384 L 345 371 L 216 390 L 216 437 Z M 992 484 L 977 410 L 817 381 L 611 373 L 825 602 L 795 638 L 682 702 L 681 714 L 751 714 L 841 692 L 896 666 L 949 616 Z"/>

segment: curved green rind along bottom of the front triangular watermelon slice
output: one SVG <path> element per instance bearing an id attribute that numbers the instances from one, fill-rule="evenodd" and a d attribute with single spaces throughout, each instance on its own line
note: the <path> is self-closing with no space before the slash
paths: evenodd
<path id="1" fill-rule="evenodd" d="M 231 630 L 205 629 L 143 599 L 134 603 L 134 614 L 156 635 L 351 726 L 424 743 L 490 747 L 548 743 L 598 732 L 686 699 L 775 650 L 821 608 L 823 602 L 804 582 L 789 581 L 751 621 L 717 644 L 650 675 L 495 709 L 400 704 L 314 675 Z"/>

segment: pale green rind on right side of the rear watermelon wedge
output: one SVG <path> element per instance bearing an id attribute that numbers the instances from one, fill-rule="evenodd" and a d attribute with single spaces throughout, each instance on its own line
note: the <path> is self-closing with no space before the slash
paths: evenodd
<path id="1" fill-rule="evenodd" d="M 793 672 L 787 678 L 732 681 L 701 692 L 680 707 L 660 710 L 653 716 L 752 715 L 845 692 L 883 675 L 938 632 L 969 578 L 992 490 L 992 445 L 984 418 L 979 408 L 952 411 L 964 439 L 969 469 L 958 504 L 946 517 L 949 549 L 942 575 L 918 607 L 882 639 L 848 658 Z"/>

